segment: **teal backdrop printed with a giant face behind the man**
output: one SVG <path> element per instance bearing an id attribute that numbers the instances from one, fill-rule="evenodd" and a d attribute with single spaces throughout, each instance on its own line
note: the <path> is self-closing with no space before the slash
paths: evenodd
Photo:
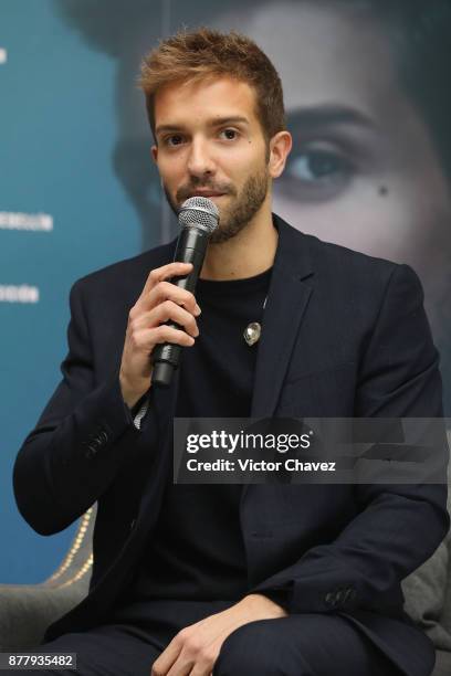
<path id="1" fill-rule="evenodd" d="M 212 4 L 0 4 L 2 583 L 51 574 L 75 528 L 35 535 L 11 486 L 15 454 L 60 379 L 70 287 L 176 234 L 135 81 L 143 54 L 181 25 L 237 28 L 273 59 L 295 141 L 274 210 L 303 231 L 417 270 L 448 388 L 451 198 L 447 139 L 417 96 L 428 60 L 412 60 L 413 84 L 402 78 L 387 25 L 350 15 L 346 0 Z M 448 89 L 433 83 L 437 95 Z M 449 389 L 445 401 L 451 415 Z"/>

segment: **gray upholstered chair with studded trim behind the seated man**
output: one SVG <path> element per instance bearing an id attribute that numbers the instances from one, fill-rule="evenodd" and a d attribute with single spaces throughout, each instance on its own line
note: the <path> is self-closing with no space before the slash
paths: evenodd
<path id="1" fill-rule="evenodd" d="M 451 442 L 451 434 L 450 434 Z M 450 474 L 451 476 L 451 474 Z M 449 480 L 448 508 L 451 510 Z M 81 519 L 56 572 L 41 584 L 0 584 L 0 652 L 39 645 L 45 629 L 87 593 L 95 507 Z M 433 676 L 451 674 L 451 534 L 402 582 L 406 610 L 437 648 Z"/>

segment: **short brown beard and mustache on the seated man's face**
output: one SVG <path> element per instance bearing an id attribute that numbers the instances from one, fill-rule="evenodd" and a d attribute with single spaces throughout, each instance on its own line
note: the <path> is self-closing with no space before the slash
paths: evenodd
<path id="1" fill-rule="evenodd" d="M 219 225 L 210 235 L 209 242 L 211 244 L 222 244 L 241 232 L 262 207 L 269 190 L 269 171 L 264 165 L 262 169 L 255 171 L 255 173 L 247 179 L 239 192 L 230 186 L 221 187 L 211 182 L 191 181 L 190 186 L 180 188 L 177 191 L 177 201 L 175 201 L 165 184 L 162 184 L 162 188 L 168 204 L 176 215 L 178 215 L 179 208 L 189 193 L 198 188 L 214 190 L 230 194 L 232 198 L 234 197 L 229 207 L 221 209 Z"/>

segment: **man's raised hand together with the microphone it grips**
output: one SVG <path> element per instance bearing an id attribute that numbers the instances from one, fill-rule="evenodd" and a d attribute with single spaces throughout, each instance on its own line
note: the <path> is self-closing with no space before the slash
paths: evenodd
<path id="1" fill-rule="evenodd" d="M 130 409 L 150 384 L 170 384 L 181 347 L 192 346 L 199 335 L 196 317 L 200 308 L 193 291 L 218 221 L 211 200 L 193 197 L 183 202 L 175 261 L 150 272 L 129 311 L 119 380 Z"/>

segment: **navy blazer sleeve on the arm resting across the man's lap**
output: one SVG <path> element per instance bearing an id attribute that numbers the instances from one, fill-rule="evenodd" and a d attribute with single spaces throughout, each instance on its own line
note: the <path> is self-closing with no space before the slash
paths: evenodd
<path id="1" fill-rule="evenodd" d="M 363 351 L 355 416 L 441 418 L 438 363 L 421 284 L 410 267 L 396 266 Z M 448 455 L 444 437 L 434 458 L 434 484 L 355 485 L 359 513 L 340 535 L 252 593 L 280 590 L 295 613 L 361 609 L 398 615 L 401 580 L 433 553 L 449 529 Z"/>

